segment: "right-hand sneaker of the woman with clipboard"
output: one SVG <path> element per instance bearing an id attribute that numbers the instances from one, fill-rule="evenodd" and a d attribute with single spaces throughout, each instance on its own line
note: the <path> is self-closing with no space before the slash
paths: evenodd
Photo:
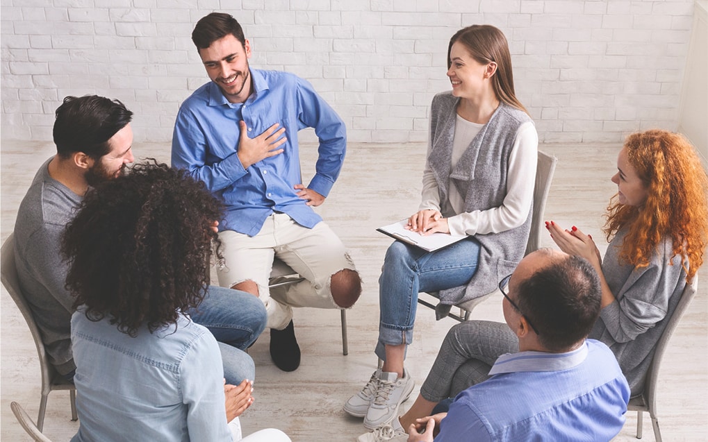
<path id="1" fill-rule="evenodd" d="M 397 373 L 382 371 L 379 376 L 376 397 L 364 417 L 364 426 L 367 429 L 376 429 L 391 422 L 394 417 L 398 416 L 401 402 L 408 399 L 415 385 L 416 383 L 413 382 L 411 375 L 405 369 L 403 378 L 400 379 Z"/>

